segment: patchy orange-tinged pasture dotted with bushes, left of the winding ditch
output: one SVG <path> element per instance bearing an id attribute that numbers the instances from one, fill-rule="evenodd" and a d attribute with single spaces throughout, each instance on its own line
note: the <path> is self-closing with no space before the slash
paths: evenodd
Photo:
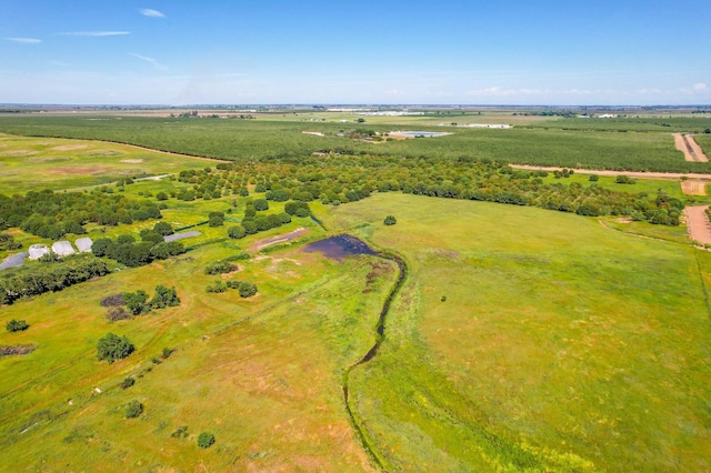
<path id="1" fill-rule="evenodd" d="M 3 331 L 0 344 L 38 349 L 0 361 L 0 470 L 369 470 L 340 380 L 372 344 L 394 269 L 294 249 L 240 262 L 228 276 L 256 282 L 257 296 L 207 294 L 219 276 L 202 269 L 234 252 L 213 244 L 3 308 L 3 323 L 26 319 L 30 329 Z M 374 268 L 377 276 L 367 276 Z M 159 283 L 176 285 L 179 308 L 106 321 L 103 296 L 152 293 Z M 98 362 L 97 340 L 109 331 L 128 335 L 137 353 Z M 176 352 L 151 362 L 163 348 Z M 127 375 L 137 383 L 123 391 Z M 134 399 L 146 411 L 127 420 Z M 187 436 L 171 437 L 181 425 Z M 217 437 L 208 451 L 196 444 L 203 430 Z"/>

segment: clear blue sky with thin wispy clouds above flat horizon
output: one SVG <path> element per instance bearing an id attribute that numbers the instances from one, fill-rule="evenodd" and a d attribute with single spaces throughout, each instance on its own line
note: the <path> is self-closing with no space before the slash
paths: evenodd
<path id="1" fill-rule="evenodd" d="M 710 0 L 0 0 L 0 103 L 710 104 Z"/>

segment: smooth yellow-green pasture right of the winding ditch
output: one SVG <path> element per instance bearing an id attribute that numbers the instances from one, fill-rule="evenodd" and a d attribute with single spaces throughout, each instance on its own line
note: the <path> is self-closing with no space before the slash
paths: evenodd
<path id="1" fill-rule="evenodd" d="M 411 270 L 378 358 L 352 373 L 389 467 L 711 467 L 708 253 L 594 219 L 395 194 L 328 220 L 359 222 Z"/>

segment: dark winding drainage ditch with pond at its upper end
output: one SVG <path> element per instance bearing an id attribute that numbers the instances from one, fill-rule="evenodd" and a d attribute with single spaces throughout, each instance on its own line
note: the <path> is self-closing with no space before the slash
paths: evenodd
<path id="1" fill-rule="evenodd" d="M 395 284 L 392 286 L 392 289 L 390 290 L 390 293 L 388 294 L 388 298 L 383 302 L 382 309 L 380 310 L 380 316 L 378 318 L 378 324 L 375 325 L 375 332 L 377 332 L 375 342 L 370 348 L 370 350 L 368 350 L 368 352 L 360 359 L 360 361 L 358 361 L 356 364 L 350 365 L 343 372 L 343 379 L 341 382 L 341 388 L 343 390 L 343 402 L 346 404 L 346 411 L 348 412 L 348 417 L 351 422 L 351 425 L 356 431 L 356 434 L 360 439 L 361 444 L 370 455 L 370 457 L 378 464 L 378 466 L 383 467 L 384 465 L 382 464 L 382 462 L 373 451 L 372 446 L 365 439 L 365 435 L 363 434 L 363 430 L 361 425 L 356 421 L 356 417 L 353 416 L 353 412 L 351 410 L 350 399 L 348 394 L 348 382 L 349 382 L 351 371 L 353 371 L 358 366 L 361 366 L 368 363 L 373 358 L 375 358 L 375 355 L 378 354 L 378 349 L 380 348 L 382 342 L 385 340 L 385 318 L 388 316 L 388 312 L 390 311 L 390 304 L 392 303 L 395 294 L 398 293 L 398 291 L 400 291 L 400 288 L 402 288 L 402 284 L 404 283 L 404 279 L 408 274 L 408 266 L 404 264 L 404 261 L 402 261 L 400 256 L 397 256 L 392 253 L 375 251 L 362 240 L 348 234 L 331 236 L 326 240 L 313 242 L 307 245 L 304 248 L 304 251 L 322 252 L 327 258 L 331 258 L 338 261 L 341 261 L 343 258 L 348 255 L 370 254 L 370 255 L 382 258 L 384 260 L 394 261 L 398 264 L 398 269 L 399 269 L 398 280 L 395 281 Z"/>

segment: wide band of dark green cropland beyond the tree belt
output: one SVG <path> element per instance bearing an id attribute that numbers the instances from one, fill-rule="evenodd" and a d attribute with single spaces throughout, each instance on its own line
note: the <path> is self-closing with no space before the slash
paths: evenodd
<path id="1" fill-rule="evenodd" d="M 437 139 L 364 142 L 339 133 L 387 133 L 403 128 L 399 118 L 372 123 L 294 121 L 292 117 L 256 120 L 166 119 L 146 117 L 0 117 L 0 131 L 34 137 L 97 139 L 138 144 L 178 153 L 234 161 L 282 159 L 313 152 L 380 154 L 408 158 L 468 157 L 518 164 L 569 168 L 711 172 L 710 163 L 685 162 L 674 148 L 672 132 L 711 125 L 710 119 L 668 119 L 674 127 L 654 124 L 654 119 L 621 123 L 592 119 L 555 119 L 509 130 L 427 127 L 417 131 L 448 131 Z M 610 119 L 612 120 L 612 119 Z M 677 120 L 677 121 L 673 121 Z M 587 123 L 592 123 L 588 125 Z M 594 123 L 603 123 L 595 125 Z M 567 125 L 568 124 L 568 125 Z M 414 125 L 413 125 L 414 127 Z M 628 130 L 621 133 L 620 131 Z M 303 131 L 323 133 L 322 137 Z"/>

